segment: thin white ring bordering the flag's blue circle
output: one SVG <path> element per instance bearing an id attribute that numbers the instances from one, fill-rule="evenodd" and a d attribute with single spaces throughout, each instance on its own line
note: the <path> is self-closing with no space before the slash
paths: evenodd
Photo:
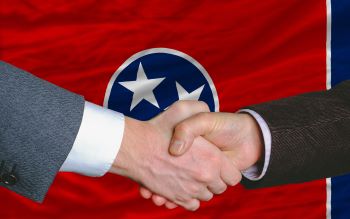
<path id="1" fill-rule="evenodd" d="M 141 58 L 145 55 L 149 55 L 149 54 L 154 54 L 154 53 L 166 53 L 166 54 L 171 54 L 171 55 L 176 55 L 179 56 L 183 59 L 186 59 L 187 61 L 189 61 L 190 63 L 192 63 L 194 66 L 196 66 L 197 69 L 199 69 L 199 71 L 204 75 L 205 79 L 207 80 L 210 90 L 213 93 L 213 99 L 214 99 L 214 110 L 215 112 L 219 112 L 219 98 L 218 98 L 218 94 L 216 92 L 216 88 L 215 85 L 213 83 L 213 80 L 211 79 L 209 73 L 207 72 L 207 70 L 205 70 L 205 68 L 199 63 L 197 62 L 194 58 L 192 58 L 191 56 L 187 55 L 186 53 L 180 52 L 178 50 L 175 49 L 169 49 L 169 48 L 152 48 L 152 49 L 146 49 L 146 50 L 142 50 L 138 53 L 135 53 L 134 55 L 132 55 L 130 58 L 128 58 L 112 75 L 111 79 L 108 82 L 107 85 L 107 89 L 105 92 L 105 98 L 103 101 L 103 106 L 108 108 L 108 101 L 109 101 L 109 97 L 112 91 L 112 87 L 113 84 L 115 82 L 115 80 L 117 79 L 118 75 L 127 67 L 129 66 L 132 62 L 134 62 L 135 60 L 137 60 L 138 58 Z"/>

